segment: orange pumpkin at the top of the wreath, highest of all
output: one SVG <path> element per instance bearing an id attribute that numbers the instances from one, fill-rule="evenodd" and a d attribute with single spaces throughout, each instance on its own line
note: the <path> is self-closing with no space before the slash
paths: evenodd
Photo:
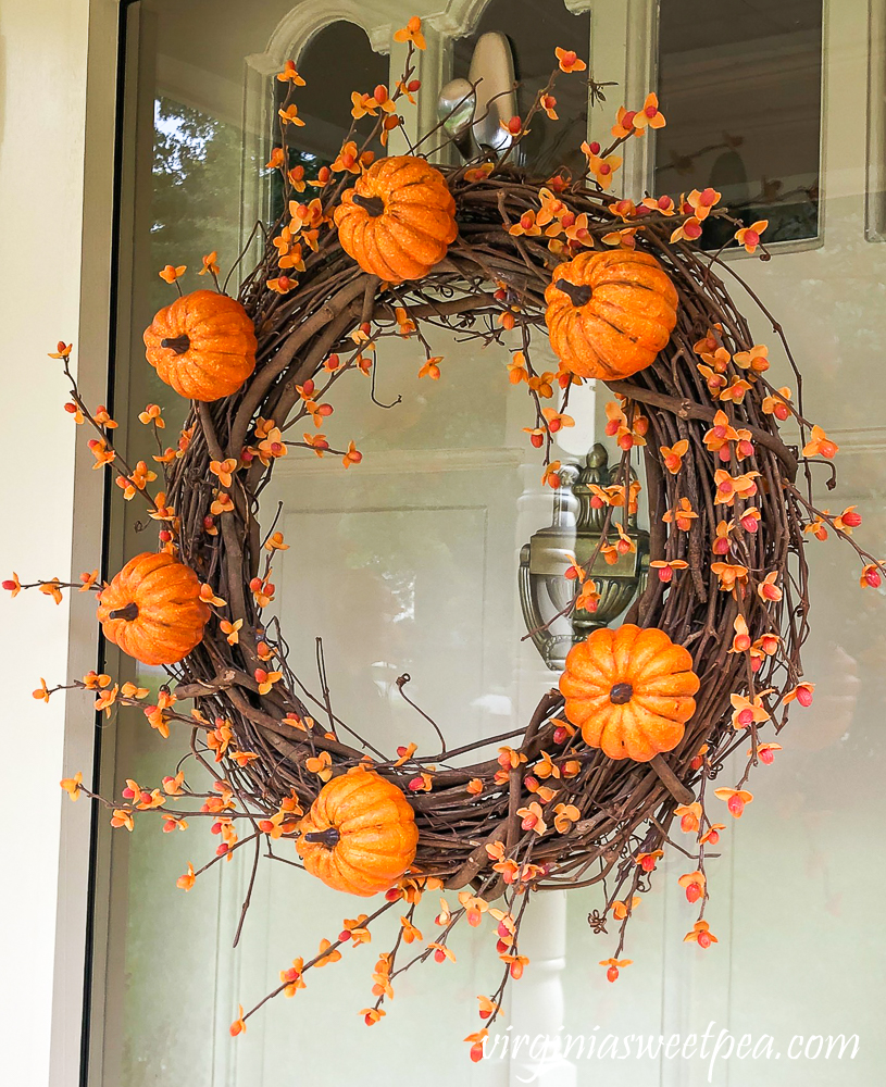
<path id="1" fill-rule="evenodd" d="M 341 248 L 386 283 L 421 279 L 456 240 L 456 201 L 439 170 L 411 154 L 379 159 L 335 210 Z"/>

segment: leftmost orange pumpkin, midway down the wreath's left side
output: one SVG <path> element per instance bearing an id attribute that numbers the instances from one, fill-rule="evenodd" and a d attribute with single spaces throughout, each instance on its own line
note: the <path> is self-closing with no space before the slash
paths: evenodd
<path id="1" fill-rule="evenodd" d="M 104 637 L 142 664 L 187 657 L 209 617 L 197 574 L 165 551 L 137 554 L 99 594 Z"/>

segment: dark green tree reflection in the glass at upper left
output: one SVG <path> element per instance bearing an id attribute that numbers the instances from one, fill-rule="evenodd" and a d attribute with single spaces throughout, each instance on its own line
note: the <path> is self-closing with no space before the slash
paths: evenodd
<path id="1" fill-rule="evenodd" d="M 222 266 L 239 248 L 240 130 L 160 98 L 154 107 L 151 262 L 187 264 L 217 250 Z M 247 170 L 260 163 L 245 163 Z M 162 284 L 161 284 L 162 286 Z M 164 296 L 165 297 L 165 296 Z"/>

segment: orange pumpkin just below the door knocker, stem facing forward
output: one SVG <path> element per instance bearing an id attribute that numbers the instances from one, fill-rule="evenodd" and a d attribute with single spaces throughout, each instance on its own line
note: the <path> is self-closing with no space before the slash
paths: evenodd
<path id="1" fill-rule="evenodd" d="M 679 744 L 698 687 L 688 650 L 633 623 L 594 630 L 569 651 L 560 676 L 564 712 L 585 742 L 636 762 Z"/>

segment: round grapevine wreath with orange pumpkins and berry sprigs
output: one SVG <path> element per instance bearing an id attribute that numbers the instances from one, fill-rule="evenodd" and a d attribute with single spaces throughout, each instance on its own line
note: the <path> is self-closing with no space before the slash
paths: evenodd
<path id="1" fill-rule="evenodd" d="M 105 804 L 113 825 L 130 830 L 149 811 L 170 830 L 184 828 L 185 816 L 207 815 L 220 845 L 178 879 L 185 890 L 246 848 L 252 880 L 261 857 L 297 853 L 330 887 L 382 896 L 316 954 L 295 960 L 250 1011 L 241 1008 L 233 1034 L 270 997 L 303 988 L 310 967 L 370 940 L 376 920 L 394 911 L 397 938 L 378 958 L 373 999 L 361 1012 L 375 1023 L 400 973 L 454 958 L 453 927 L 489 914 L 503 969 L 479 998 L 481 1028 L 467 1038 L 479 1059 L 509 979 L 527 965 L 520 932 L 536 891 L 601 892 L 588 921 L 613 933 L 601 965 L 615 980 L 629 962 L 621 958 L 627 923 L 657 860 L 676 845 L 691 859 L 679 883 L 698 909 L 686 940 L 715 941 L 704 909 L 717 821 L 743 814 L 752 800 L 748 775 L 779 750 L 789 703 L 812 699 L 800 665 L 809 632 L 806 545 L 832 533 L 848 541 L 862 586 L 879 585 L 883 565 L 852 540 L 861 522 L 853 508 L 834 515 L 813 505 L 813 472 L 837 447 L 803 418 L 799 396 L 769 383 L 766 347 L 754 343 L 724 285 L 723 275 L 741 285 L 733 265 L 692 246 L 703 221 L 716 216 L 734 225 L 737 246 L 768 259 L 766 224 L 732 220 L 712 189 L 639 203 L 609 191 L 619 147 L 664 124 L 656 97 L 639 111 L 619 110 L 609 147 L 583 145 L 583 176 L 534 178 L 516 164 L 521 140 L 540 111 L 556 118 L 556 79 L 586 70 L 558 49 L 528 115 L 506 125 L 511 146 L 501 159 L 430 165 L 424 153 L 435 136 L 445 139 L 442 128 L 408 154 L 385 157 L 401 124 L 397 110 L 417 89 L 413 60 L 424 48 L 417 18 L 397 37 L 408 42 L 402 79 L 392 95 L 377 87 L 352 96 L 351 132 L 316 177 L 290 166 L 287 137 L 301 124 L 295 98 L 302 80 L 291 62 L 278 75 L 287 95 L 280 146 L 267 165 L 279 173 L 287 212 L 236 299 L 219 280 L 215 253 L 201 270 L 215 289 L 183 293 L 185 267 L 160 273 L 179 297 L 157 315 L 145 343 L 159 376 L 190 400 L 177 446 L 154 455 L 152 467 L 127 463 L 107 410 L 91 411 L 80 397 L 71 348 L 60 343 L 53 353 L 72 383 L 67 410 L 96 432 L 97 466 L 112 465 L 123 497 L 146 501 L 160 529 L 157 552 L 132 559 L 107 584 L 93 571 L 74 585 L 98 591 L 108 639 L 164 665 L 175 680 L 150 705 L 147 690 L 104 674 L 66 686 L 95 691 L 109 714 L 141 705 L 163 736 L 171 727 L 191 735 L 190 761 L 157 787 L 127 780 L 120 798 L 103 799 L 80 774 L 62 785 L 75 800 L 83 792 Z M 602 98 L 591 79 L 588 87 L 591 102 Z M 371 130 L 359 137 L 364 117 Z M 744 289 L 770 320 L 799 386 L 781 326 Z M 640 501 L 652 576 L 619 627 L 573 647 L 559 689 L 525 727 L 450 750 L 435 724 L 438 750 L 410 744 L 384 752 L 335 714 L 322 652 L 321 689 L 312 695 L 287 664 L 277 620 L 264 617 L 275 554 L 291 545 L 263 524 L 260 497 L 290 450 L 336 455 L 359 471 L 354 443 L 335 450 L 321 430 L 334 386 L 350 372 L 369 374 L 392 336 L 420 345 L 419 376 L 439 379 L 445 365 L 432 347 L 439 328 L 508 348 L 509 378 L 528 391 L 526 430 L 552 487 L 560 468 L 552 436 L 572 422 L 570 390 L 604 383 L 614 397 L 607 432 L 622 455 L 616 482 L 591 488 L 606 509 L 603 534 L 590 560 L 567 571 L 576 591 L 566 611 L 594 610 L 595 571 L 634 547 L 623 529 Z M 539 335 L 560 360 L 556 374 L 533 364 Z M 157 405 L 140 418 L 162 438 Z M 799 430 L 798 446 L 783 440 L 785 421 Z M 14 576 L 4 585 L 58 600 L 71 583 L 22 585 Z M 415 705 L 408 680 L 398 687 Z M 41 682 L 35 696 L 48 700 L 60 689 Z M 496 747 L 497 758 L 486 753 Z M 746 752 L 745 769 L 714 788 L 733 752 Z M 198 766 L 209 775 L 202 787 Z M 423 944 L 416 910 L 428 892 L 440 908 L 429 922 L 434 938 Z"/>

